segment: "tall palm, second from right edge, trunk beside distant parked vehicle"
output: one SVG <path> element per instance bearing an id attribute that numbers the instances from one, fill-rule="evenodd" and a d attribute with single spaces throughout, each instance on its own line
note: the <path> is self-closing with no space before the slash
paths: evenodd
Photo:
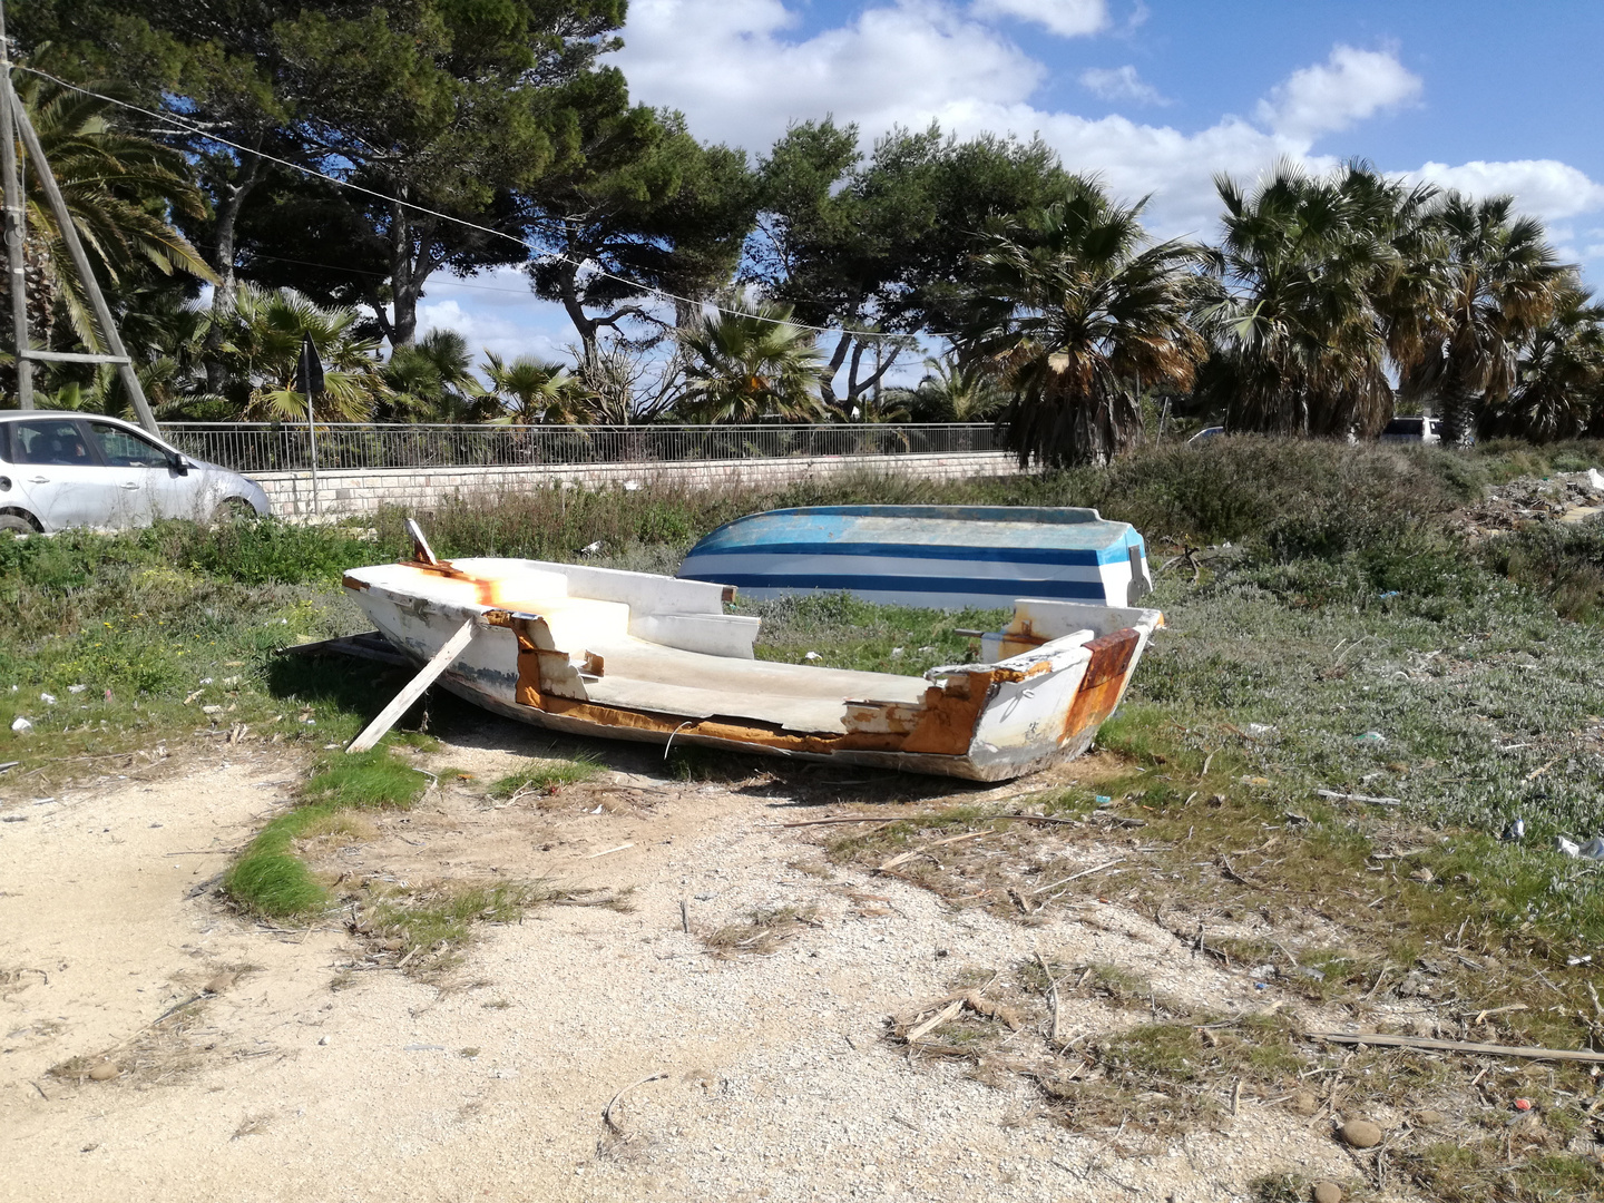
<path id="1" fill-rule="evenodd" d="M 1448 287 L 1407 385 L 1437 398 L 1442 441 L 1463 443 L 1480 409 L 1509 395 L 1521 343 L 1554 313 L 1569 269 L 1543 225 L 1514 215 L 1513 197 L 1448 192 L 1434 220 L 1447 244 Z"/>

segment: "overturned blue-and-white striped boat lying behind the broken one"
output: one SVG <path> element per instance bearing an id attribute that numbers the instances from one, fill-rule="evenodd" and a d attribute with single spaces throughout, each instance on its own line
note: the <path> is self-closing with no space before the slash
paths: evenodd
<path id="1" fill-rule="evenodd" d="M 847 592 L 930 610 L 1019 597 L 1136 605 L 1147 544 L 1097 510 L 1023 505 L 815 505 L 725 523 L 680 565 L 746 597 Z"/>

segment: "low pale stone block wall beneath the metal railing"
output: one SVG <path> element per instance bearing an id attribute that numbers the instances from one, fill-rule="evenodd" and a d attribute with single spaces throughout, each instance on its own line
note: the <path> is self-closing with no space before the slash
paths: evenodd
<path id="1" fill-rule="evenodd" d="M 318 473 L 318 497 L 330 516 L 372 513 L 385 505 L 428 510 L 454 497 L 504 496 L 553 484 L 605 488 L 648 481 L 691 486 L 781 486 L 847 473 L 885 473 L 922 480 L 1006 476 L 1017 465 L 1003 451 L 967 451 L 932 456 L 794 456 L 786 459 L 683 460 L 662 464 L 574 464 L 541 467 L 467 468 L 348 468 Z M 310 472 L 253 473 L 279 516 L 310 515 Z"/>

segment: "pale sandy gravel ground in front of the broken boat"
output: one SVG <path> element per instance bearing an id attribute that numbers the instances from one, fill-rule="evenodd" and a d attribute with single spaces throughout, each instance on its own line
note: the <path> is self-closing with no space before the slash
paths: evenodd
<path id="1" fill-rule="evenodd" d="M 537 749 L 494 743 L 433 764 L 491 778 Z M 1030 929 L 895 881 L 826 881 L 796 868 L 818 853 L 780 826 L 789 799 L 614 764 L 629 772 L 600 786 L 616 794 L 602 813 L 441 796 L 433 818 L 425 805 L 375 837 L 369 860 L 412 857 L 395 874 L 472 863 L 634 887 L 632 913 L 542 908 L 486 929 L 446 983 L 374 970 L 330 990 L 356 959 L 343 929 L 252 926 L 205 889 L 287 802 L 294 767 L 266 751 L 0 808 L 0 1200 L 1189 1203 L 1245 1198 L 1267 1171 L 1355 1177 L 1328 1124 L 1282 1107 L 1243 1100 L 1227 1132 L 1120 1156 L 1038 1115 L 1027 1081 L 986 1086 L 882 1038 L 959 970 L 1007 972 L 1036 948 L 1222 1011 L 1262 1004 L 1140 916 L 1107 905 Z M 887 903 L 866 913 L 850 889 Z M 821 926 L 722 961 L 682 930 L 682 898 L 698 932 L 780 905 Z M 1070 1028 L 1118 1023 L 1073 1007 Z M 48 1073 L 104 1054 L 112 1081 Z M 619 1139 L 602 1110 L 630 1086 Z"/>

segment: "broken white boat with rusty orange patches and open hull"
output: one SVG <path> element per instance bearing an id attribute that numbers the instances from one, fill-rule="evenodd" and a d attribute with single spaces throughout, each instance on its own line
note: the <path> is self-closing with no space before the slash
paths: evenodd
<path id="1" fill-rule="evenodd" d="M 898 677 L 755 659 L 759 619 L 725 613 L 722 582 L 436 561 L 419 539 L 415 560 L 353 569 L 345 587 L 407 659 L 510 719 L 977 781 L 1083 752 L 1163 624 L 1156 610 L 1017 600 L 982 638 L 985 662 Z"/>

